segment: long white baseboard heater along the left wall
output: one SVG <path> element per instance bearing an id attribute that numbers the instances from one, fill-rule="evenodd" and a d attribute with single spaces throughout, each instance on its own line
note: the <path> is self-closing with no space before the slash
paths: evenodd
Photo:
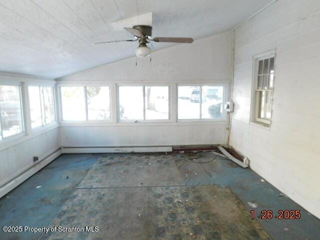
<path id="1" fill-rule="evenodd" d="M 34 165 L 30 166 L 28 169 L 24 170 L 8 182 L 4 183 L 2 186 L 0 186 L 0 198 L 4 196 L 6 193 L 11 191 L 13 188 L 20 185 L 23 181 L 28 179 L 30 176 L 32 176 L 34 173 L 39 171 L 41 168 L 49 164 L 51 161 L 53 161 L 55 158 L 57 158 L 59 155 L 62 154 L 61 148 L 57 149 L 55 152 L 51 153 L 50 155 L 44 157 L 40 161 L 36 162 Z"/>

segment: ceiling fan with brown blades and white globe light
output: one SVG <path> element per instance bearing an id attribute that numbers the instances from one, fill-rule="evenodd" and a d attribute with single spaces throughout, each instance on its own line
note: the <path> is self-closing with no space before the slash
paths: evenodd
<path id="1" fill-rule="evenodd" d="M 147 46 L 147 44 L 151 44 L 149 41 L 154 42 L 180 42 L 180 43 L 191 43 L 193 42 L 193 38 L 191 37 L 153 37 L 151 38 L 152 27 L 147 25 L 136 25 L 132 28 L 124 27 L 125 30 L 130 32 L 134 39 L 128 40 L 115 40 L 115 41 L 102 41 L 95 42 L 94 44 L 100 43 L 109 43 L 109 42 L 119 42 L 119 41 L 138 41 L 139 46 L 135 48 L 135 54 L 138 57 L 146 57 L 150 55 L 151 48 Z M 151 44 L 152 46 L 152 44 Z"/>

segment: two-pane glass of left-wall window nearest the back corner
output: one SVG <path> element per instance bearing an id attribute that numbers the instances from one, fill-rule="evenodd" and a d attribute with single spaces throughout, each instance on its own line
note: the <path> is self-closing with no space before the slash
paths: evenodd
<path id="1" fill-rule="evenodd" d="M 55 121 L 53 87 L 28 86 L 31 127 Z"/>

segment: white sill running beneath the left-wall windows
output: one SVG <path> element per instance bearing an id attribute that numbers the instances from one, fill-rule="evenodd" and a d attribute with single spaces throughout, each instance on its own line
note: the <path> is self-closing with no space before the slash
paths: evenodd
<path id="1" fill-rule="evenodd" d="M 3 149 L 6 149 L 8 147 L 14 146 L 16 144 L 19 144 L 23 141 L 26 141 L 28 139 L 31 139 L 35 136 L 38 136 L 40 134 L 43 134 L 47 131 L 50 131 L 54 128 L 57 128 L 59 125 L 56 122 L 52 122 L 52 124 L 48 124 L 46 126 L 43 127 L 39 127 L 39 129 L 36 129 L 36 131 L 33 131 L 31 134 L 27 135 L 25 134 L 25 132 L 20 132 L 16 135 L 14 135 L 14 137 L 10 137 L 10 139 L 4 139 L 3 141 L 0 141 L 0 151 Z"/>

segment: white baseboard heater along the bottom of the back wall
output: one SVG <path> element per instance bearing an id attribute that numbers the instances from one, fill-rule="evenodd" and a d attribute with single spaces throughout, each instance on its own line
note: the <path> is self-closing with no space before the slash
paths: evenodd
<path id="1" fill-rule="evenodd" d="M 62 153 L 170 152 L 172 146 L 61 147 Z"/>

